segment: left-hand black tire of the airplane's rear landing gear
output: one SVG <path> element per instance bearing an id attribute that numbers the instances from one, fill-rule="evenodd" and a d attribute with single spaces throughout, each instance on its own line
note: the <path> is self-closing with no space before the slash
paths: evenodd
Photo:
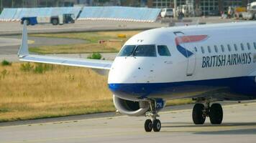
<path id="1" fill-rule="evenodd" d="M 194 124 L 204 124 L 206 116 L 204 115 L 204 104 L 195 104 L 193 106 L 192 119 Z"/>

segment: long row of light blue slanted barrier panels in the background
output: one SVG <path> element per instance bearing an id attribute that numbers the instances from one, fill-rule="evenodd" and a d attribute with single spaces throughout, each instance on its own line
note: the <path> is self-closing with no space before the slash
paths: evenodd
<path id="1" fill-rule="evenodd" d="M 82 10 L 82 11 L 81 11 Z M 17 8 L 4 9 L 0 21 L 19 21 L 24 16 L 57 16 L 74 14 L 78 20 L 119 20 L 153 22 L 160 14 L 160 9 L 126 7 L 126 6 L 86 6 L 83 7 L 50 7 L 50 8 Z"/>

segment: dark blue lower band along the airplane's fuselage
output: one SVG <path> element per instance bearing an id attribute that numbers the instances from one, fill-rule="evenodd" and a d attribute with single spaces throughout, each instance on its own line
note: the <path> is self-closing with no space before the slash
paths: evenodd
<path id="1" fill-rule="evenodd" d="M 173 94 L 209 88 L 226 88 L 229 92 L 256 97 L 255 77 L 233 77 L 225 79 L 206 79 L 189 82 L 109 84 L 109 89 L 119 97 L 145 98 L 152 94 Z"/>

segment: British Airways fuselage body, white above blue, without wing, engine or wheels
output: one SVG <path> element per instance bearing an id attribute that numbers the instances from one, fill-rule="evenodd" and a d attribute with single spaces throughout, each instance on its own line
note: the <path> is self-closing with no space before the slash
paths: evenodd
<path id="1" fill-rule="evenodd" d="M 109 88 L 114 84 L 145 88 L 144 93 L 143 89 L 132 91 L 130 87 L 131 94 L 137 93 L 131 97 L 128 90 L 123 96 L 111 89 L 114 94 L 121 93 L 116 95 L 121 98 L 193 97 L 224 87 L 237 88 L 230 82 L 240 81 L 250 82 L 248 86 L 254 88 L 248 94 L 255 92 L 255 22 L 152 29 L 133 36 L 124 47 L 127 45 L 155 45 L 156 56 L 116 57 L 109 72 Z M 170 56 L 160 56 L 159 45 L 167 46 Z M 246 77 L 250 79 L 243 80 Z M 239 84 L 242 83 L 237 83 L 238 87 Z M 163 86 L 166 87 L 162 89 Z"/>

